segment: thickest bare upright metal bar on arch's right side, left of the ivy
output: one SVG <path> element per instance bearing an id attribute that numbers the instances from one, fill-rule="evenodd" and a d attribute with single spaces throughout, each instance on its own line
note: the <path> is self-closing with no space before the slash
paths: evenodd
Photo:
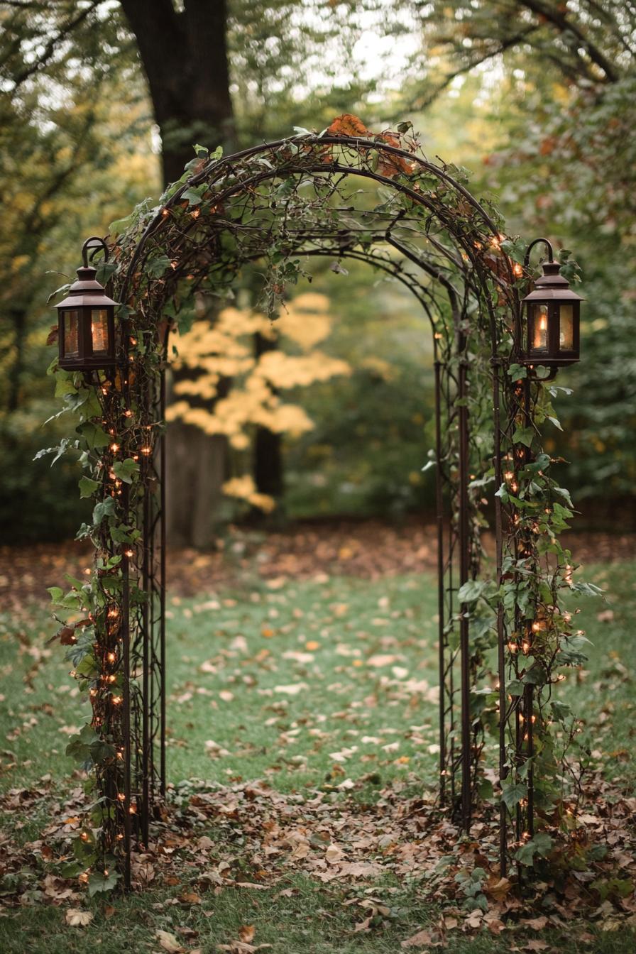
<path id="1" fill-rule="evenodd" d="M 460 424 L 460 586 L 468 580 L 469 540 L 468 540 L 468 409 L 466 407 L 467 367 L 463 351 L 465 339 L 462 336 L 460 347 L 459 374 L 459 424 Z M 462 698 L 462 828 L 470 827 L 471 806 L 471 732 L 470 732 L 470 646 L 469 627 L 466 615 L 467 607 L 460 605 L 460 652 L 461 652 L 461 698 Z"/>

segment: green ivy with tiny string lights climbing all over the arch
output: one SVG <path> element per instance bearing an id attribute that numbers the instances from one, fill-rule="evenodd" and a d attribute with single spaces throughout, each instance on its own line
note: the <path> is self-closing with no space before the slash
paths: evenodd
<path id="1" fill-rule="evenodd" d="M 78 533 L 95 548 L 92 570 L 69 592 L 51 591 L 60 642 L 92 706 L 68 751 L 91 770 L 93 804 L 73 871 L 93 893 L 129 880 L 132 841 L 148 840 L 150 805 L 165 783 L 154 540 L 169 334 L 189 328 L 195 310 L 214 322 L 215 303 L 253 261 L 273 317 L 290 286 L 311 280 L 307 263 L 317 256 L 343 280 L 343 259 L 367 261 L 421 302 L 440 408 L 430 463 L 448 514 L 447 529 L 440 523 L 441 800 L 464 827 L 478 798 L 503 806 L 502 870 L 511 859 L 527 866 L 546 857 L 567 827 L 579 726 L 554 687 L 585 659 L 566 597 L 595 588 L 574 582 L 559 542 L 572 502 L 553 476 L 560 459 L 542 447 L 544 425 L 559 426 L 551 402 L 560 388 L 547 369 L 530 379 L 518 363 L 524 246 L 467 182 L 464 170 L 422 156 L 410 124 L 374 135 L 341 116 L 319 135 L 297 131 L 227 158 L 196 146 L 158 205 L 146 201 L 111 226 L 111 261 L 98 278 L 122 302 L 116 372 L 51 364 L 75 426 L 51 449 L 79 452 L 80 495 L 93 502 Z M 569 254 L 562 260 L 576 277 Z M 496 553 L 484 557 L 493 511 Z"/>

